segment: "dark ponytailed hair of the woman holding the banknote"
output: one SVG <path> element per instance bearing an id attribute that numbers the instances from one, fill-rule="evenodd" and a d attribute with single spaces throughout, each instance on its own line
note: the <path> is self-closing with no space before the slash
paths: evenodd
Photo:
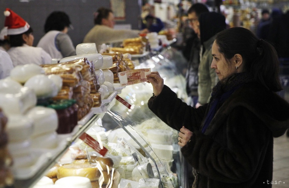
<path id="1" fill-rule="evenodd" d="M 221 31 L 215 42 L 219 52 L 227 60 L 235 54 L 240 54 L 244 70 L 249 72 L 256 82 L 274 92 L 282 90 L 277 52 L 270 43 L 258 39 L 250 30 L 243 27 Z"/>

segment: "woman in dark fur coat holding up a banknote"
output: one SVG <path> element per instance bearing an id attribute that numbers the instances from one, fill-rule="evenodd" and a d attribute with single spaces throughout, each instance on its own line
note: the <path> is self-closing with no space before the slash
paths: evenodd
<path id="1" fill-rule="evenodd" d="M 193 187 L 271 187 L 273 137 L 289 126 L 289 104 L 275 93 L 282 89 L 277 53 L 248 29 L 234 27 L 217 35 L 212 56 L 220 81 L 208 104 L 188 106 L 152 72 L 147 77 L 155 96 L 148 107 L 180 130 Z"/>

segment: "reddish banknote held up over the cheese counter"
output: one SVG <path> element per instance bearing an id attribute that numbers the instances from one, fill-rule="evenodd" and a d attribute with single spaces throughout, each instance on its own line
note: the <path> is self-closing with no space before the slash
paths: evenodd
<path id="1" fill-rule="evenodd" d="M 148 81 L 146 75 L 151 73 L 150 68 L 145 69 L 134 69 L 134 70 L 127 70 L 124 72 L 119 72 L 118 77 L 120 79 L 121 86 L 127 86 L 132 84 L 138 84 L 141 82 Z"/>

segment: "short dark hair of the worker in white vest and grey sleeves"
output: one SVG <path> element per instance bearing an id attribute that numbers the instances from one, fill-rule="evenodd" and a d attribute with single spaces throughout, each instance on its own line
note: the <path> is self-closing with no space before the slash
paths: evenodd
<path id="1" fill-rule="evenodd" d="M 54 11 L 46 19 L 44 24 L 44 32 L 51 30 L 62 31 L 71 24 L 69 16 L 65 12 Z"/>

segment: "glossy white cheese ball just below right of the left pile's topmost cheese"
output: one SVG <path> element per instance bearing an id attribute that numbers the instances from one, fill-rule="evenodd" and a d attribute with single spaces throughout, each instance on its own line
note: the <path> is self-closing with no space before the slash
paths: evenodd
<path id="1" fill-rule="evenodd" d="M 24 86 L 33 89 L 37 98 L 54 97 L 58 93 L 58 87 L 54 81 L 44 74 L 30 77 L 25 82 Z"/>

